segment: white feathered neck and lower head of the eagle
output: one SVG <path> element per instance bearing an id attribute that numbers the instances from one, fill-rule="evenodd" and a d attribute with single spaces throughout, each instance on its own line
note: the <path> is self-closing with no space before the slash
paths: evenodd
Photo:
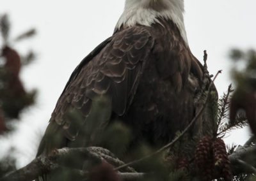
<path id="1" fill-rule="evenodd" d="M 141 24 L 150 26 L 159 23 L 157 18 L 172 20 L 180 29 L 184 41 L 187 41 L 184 26 L 184 0 L 126 0 L 124 13 L 116 24 L 116 29 Z"/>

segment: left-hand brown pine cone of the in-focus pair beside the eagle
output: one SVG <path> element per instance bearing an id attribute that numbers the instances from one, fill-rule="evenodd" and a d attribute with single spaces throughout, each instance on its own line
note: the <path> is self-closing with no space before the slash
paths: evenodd
<path id="1" fill-rule="evenodd" d="M 202 180 L 212 180 L 214 175 L 214 158 L 212 156 L 212 139 L 205 136 L 196 146 L 195 163 Z"/>

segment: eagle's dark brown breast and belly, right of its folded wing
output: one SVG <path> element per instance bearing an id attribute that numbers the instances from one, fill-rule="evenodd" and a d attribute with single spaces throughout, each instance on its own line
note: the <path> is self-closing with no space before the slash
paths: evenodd
<path id="1" fill-rule="evenodd" d="M 132 104 L 122 117 L 138 136 L 136 140 L 144 138 L 153 145 L 171 141 L 177 131 L 188 126 L 195 116 L 193 100 L 202 78 L 202 69 L 179 29 L 171 21 L 161 24 L 164 27 L 155 24 L 145 28 L 154 47 Z"/>

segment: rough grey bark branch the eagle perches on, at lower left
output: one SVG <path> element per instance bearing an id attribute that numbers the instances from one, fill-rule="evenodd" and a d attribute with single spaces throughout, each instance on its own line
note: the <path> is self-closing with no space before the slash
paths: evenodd
<path id="1" fill-rule="evenodd" d="M 109 155 L 108 157 L 111 157 L 112 163 L 116 161 L 116 163 L 113 165 L 118 165 L 120 163 L 124 164 L 105 148 L 61 148 L 54 150 L 49 156 L 36 157 L 27 166 L 24 166 L 23 168 L 13 171 L 12 173 L 5 175 L 3 178 L 0 178 L 0 181 L 31 181 L 35 180 L 40 175 L 50 173 L 58 168 L 67 168 L 67 166 L 72 165 L 70 164 L 70 161 L 74 160 L 74 157 L 80 158 L 81 156 L 83 159 L 79 159 L 79 162 L 93 161 L 95 163 L 102 163 L 103 160 L 108 162 L 107 155 Z M 76 173 L 76 175 L 81 178 L 88 177 L 88 171 L 76 170 L 74 168 L 69 169 L 72 170 L 72 173 Z M 129 168 L 128 171 L 134 172 L 132 168 Z M 120 177 L 124 178 L 124 180 L 131 180 L 131 178 L 134 177 L 140 178 L 141 175 L 143 175 L 143 173 L 134 173 L 134 175 L 131 175 L 131 173 L 122 173 L 120 174 Z"/>

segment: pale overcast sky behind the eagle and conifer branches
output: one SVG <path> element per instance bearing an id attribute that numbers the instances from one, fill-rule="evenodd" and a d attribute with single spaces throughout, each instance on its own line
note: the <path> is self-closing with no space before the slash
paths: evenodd
<path id="1" fill-rule="evenodd" d="M 185 5 L 189 46 L 200 60 L 203 50 L 208 51 L 212 74 L 223 69 L 216 81 L 221 94 L 231 83 L 228 50 L 256 48 L 256 1 L 185 0 Z M 12 36 L 30 27 L 38 31 L 35 38 L 15 46 L 37 54 L 36 62 L 22 71 L 26 88 L 40 91 L 37 104 L 22 115 L 16 133 L 0 141 L 1 152 L 15 145 L 19 166 L 35 156 L 38 136 L 44 133 L 68 77 L 83 57 L 111 36 L 123 9 L 124 0 L 0 0 L 0 14 L 10 15 Z M 248 131 L 237 131 L 226 141 L 243 143 L 247 136 Z"/>

